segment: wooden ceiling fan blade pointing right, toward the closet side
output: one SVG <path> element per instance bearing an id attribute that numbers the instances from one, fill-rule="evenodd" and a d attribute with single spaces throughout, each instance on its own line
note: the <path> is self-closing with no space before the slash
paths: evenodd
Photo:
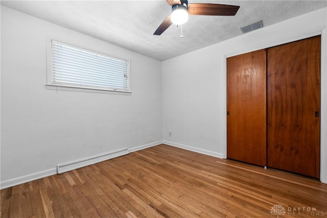
<path id="1" fill-rule="evenodd" d="M 240 6 L 195 3 L 189 4 L 189 15 L 234 16 Z"/>

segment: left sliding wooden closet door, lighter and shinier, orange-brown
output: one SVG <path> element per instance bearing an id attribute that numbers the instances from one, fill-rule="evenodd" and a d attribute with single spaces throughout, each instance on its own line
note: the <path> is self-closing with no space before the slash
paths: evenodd
<path id="1" fill-rule="evenodd" d="M 266 165 L 266 50 L 227 58 L 227 158 Z"/>

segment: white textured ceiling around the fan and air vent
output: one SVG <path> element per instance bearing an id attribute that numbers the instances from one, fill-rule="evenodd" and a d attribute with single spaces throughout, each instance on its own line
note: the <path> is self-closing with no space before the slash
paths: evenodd
<path id="1" fill-rule="evenodd" d="M 183 28 L 172 25 L 153 35 L 171 13 L 165 0 L 158 1 L 1 1 L 1 5 L 56 23 L 62 27 L 167 60 L 241 35 L 241 27 L 262 20 L 264 27 L 327 7 L 327 1 L 201 1 L 238 5 L 235 16 L 190 16 Z"/>

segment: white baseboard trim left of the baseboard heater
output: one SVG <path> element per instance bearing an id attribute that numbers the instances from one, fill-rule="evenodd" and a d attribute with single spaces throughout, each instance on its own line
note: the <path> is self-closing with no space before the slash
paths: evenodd
<path id="1" fill-rule="evenodd" d="M 13 179 L 8 179 L 0 182 L 0 189 L 9 188 L 15 185 L 20 185 L 26 182 L 31 182 L 33 180 L 41 179 L 55 174 L 57 174 L 57 168 L 46 169 L 45 171 L 41 171 L 26 176 L 13 178 Z"/>

